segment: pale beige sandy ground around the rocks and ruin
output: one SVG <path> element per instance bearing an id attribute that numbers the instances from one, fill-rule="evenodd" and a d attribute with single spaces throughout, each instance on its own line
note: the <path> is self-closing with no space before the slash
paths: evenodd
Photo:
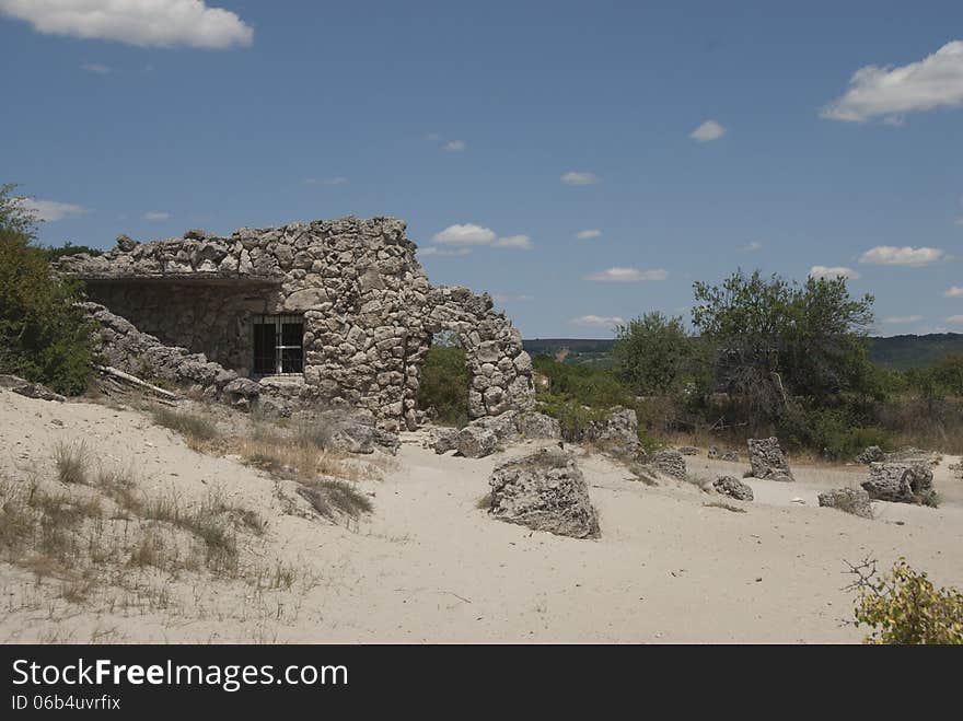
<path id="1" fill-rule="evenodd" d="M 793 466 L 794 484 L 749 480 L 756 500 L 733 501 L 746 511 L 734 513 L 704 505 L 718 498 L 692 485 L 646 486 L 584 456 L 602 537 L 576 540 L 476 507 L 504 454 L 438 456 L 408 434 L 384 479 L 361 481 L 373 514 L 346 527 L 286 514 L 265 474 L 192 451 L 142 412 L 0 392 L 8 479 L 51 474 L 53 445 L 77 439 L 102 463 L 134 468 L 148 491 L 189 500 L 220 488 L 257 510 L 268 530 L 245 542 L 245 558 L 282 560 L 299 580 L 262 591 L 184 572 L 155 580 L 173 596 L 166 607 L 124 607 L 68 603 L 0 563 L 2 642 L 850 642 L 865 631 L 843 623 L 852 608 L 844 560 L 905 556 L 938 584 L 963 585 L 963 480 L 951 478 L 950 456 L 936 469 L 939 509 L 878 502 L 871 521 L 817 508 L 820 490 L 865 478 L 857 466 Z M 747 467 L 687 463 L 708 478 Z"/>

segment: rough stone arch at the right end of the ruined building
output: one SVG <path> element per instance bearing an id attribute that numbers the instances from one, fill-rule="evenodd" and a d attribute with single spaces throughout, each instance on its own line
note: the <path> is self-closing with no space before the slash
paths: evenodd
<path id="1" fill-rule="evenodd" d="M 512 408 L 532 406 L 535 395 L 532 359 L 522 348 L 522 334 L 503 313 L 494 310 L 487 293 L 478 295 L 460 287 L 432 288 L 418 325 L 406 371 L 416 380 L 413 399 L 431 337 L 449 330 L 457 336 L 465 350 L 469 418 L 498 416 Z M 411 418 L 409 426 L 414 423 L 417 419 Z"/>

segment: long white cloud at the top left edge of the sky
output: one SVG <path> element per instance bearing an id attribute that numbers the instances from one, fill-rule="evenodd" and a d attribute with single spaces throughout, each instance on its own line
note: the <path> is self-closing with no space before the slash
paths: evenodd
<path id="1" fill-rule="evenodd" d="M 141 47 L 248 46 L 254 28 L 204 0 L 0 0 L 0 12 L 44 35 L 119 40 Z"/>

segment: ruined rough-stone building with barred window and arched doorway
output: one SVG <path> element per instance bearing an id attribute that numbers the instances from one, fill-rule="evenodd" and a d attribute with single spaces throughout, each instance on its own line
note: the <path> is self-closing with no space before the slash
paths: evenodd
<path id="1" fill-rule="evenodd" d="M 392 218 L 188 231 L 103 256 L 62 258 L 85 281 L 112 367 L 208 396 L 371 411 L 386 429 L 422 420 L 416 394 L 432 335 L 465 349 L 472 418 L 531 407 L 532 361 L 488 294 L 433 287 Z M 201 356 L 202 354 L 202 356 Z"/>

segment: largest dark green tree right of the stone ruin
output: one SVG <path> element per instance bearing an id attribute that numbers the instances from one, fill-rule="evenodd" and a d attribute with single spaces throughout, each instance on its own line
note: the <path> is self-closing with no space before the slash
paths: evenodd
<path id="1" fill-rule="evenodd" d="M 790 395 L 869 391 L 873 298 L 852 299 L 845 278 L 800 286 L 738 270 L 720 286 L 696 282 L 694 293 L 693 324 L 718 348 L 719 381 L 753 411 L 776 416 Z"/>

